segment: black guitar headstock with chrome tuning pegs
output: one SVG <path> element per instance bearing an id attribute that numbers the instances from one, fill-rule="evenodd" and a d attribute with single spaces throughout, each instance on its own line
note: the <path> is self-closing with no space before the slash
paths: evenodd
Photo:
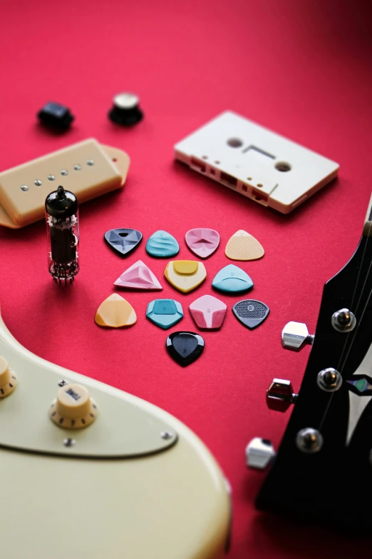
<path id="1" fill-rule="evenodd" d="M 372 500 L 372 197 L 356 252 L 324 286 L 315 335 L 288 323 L 282 341 L 312 348 L 298 394 L 281 379 L 267 391 L 271 409 L 294 404 L 277 455 L 265 439 L 247 447 L 249 465 L 271 463 L 257 507 L 370 528 L 361 510 Z"/>

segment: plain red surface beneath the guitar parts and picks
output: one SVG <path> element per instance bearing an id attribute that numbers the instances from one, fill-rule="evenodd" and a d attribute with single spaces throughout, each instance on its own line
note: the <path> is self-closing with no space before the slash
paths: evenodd
<path id="1" fill-rule="evenodd" d="M 314 330 L 322 286 L 361 235 L 371 193 L 372 125 L 371 17 L 364 4 L 0 4 L 0 169 L 91 136 L 132 159 L 124 191 L 81 206 L 81 273 L 71 288 L 48 277 L 44 223 L 0 229 L 4 321 L 37 355 L 145 398 L 200 435 L 232 483 L 232 559 L 371 555 L 367 541 L 356 551 L 355 541 L 325 529 L 257 513 L 253 501 L 263 475 L 244 467 L 247 441 L 263 435 L 278 445 L 289 417 L 265 407 L 269 381 L 290 378 L 298 389 L 309 355 L 308 348 L 301 354 L 281 348 L 282 326 L 298 320 Z M 129 130 L 106 117 L 111 97 L 123 90 L 137 92 L 145 111 Z M 76 115 L 66 135 L 36 124 L 36 111 L 50 99 Z M 173 144 L 225 109 L 338 161 L 339 179 L 281 216 L 174 163 Z M 163 228 L 180 242 L 179 258 L 192 258 L 183 238 L 203 226 L 219 231 L 221 245 L 205 262 L 207 281 L 184 296 L 162 278 L 166 262 L 147 256 L 145 241 Z M 143 243 L 125 261 L 103 242 L 115 227 L 143 232 Z M 146 306 L 159 296 L 176 298 L 185 318 L 171 331 L 195 330 L 187 306 L 212 293 L 215 273 L 231 263 L 224 246 L 238 228 L 266 250 L 242 268 L 254 280 L 252 296 L 271 308 L 269 318 L 248 331 L 232 316 L 239 298 L 221 295 L 229 306 L 222 330 L 203 334 L 202 358 L 180 368 L 165 351 L 167 333 L 145 318 Z M 98 328 L 96 309 L 139 258 L 162 282 L 162 293 L 128 293 L 138 314 L 133 328 Z"/>

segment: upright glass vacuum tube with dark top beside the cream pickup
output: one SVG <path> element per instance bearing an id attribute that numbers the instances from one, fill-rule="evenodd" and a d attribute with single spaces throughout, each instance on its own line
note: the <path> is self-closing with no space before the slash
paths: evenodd
<path id="1" fill-rule="evenodd" d="M 73 281 L 79 271 L 78 201 L 58 186 L 45 201 L 48 270 L 54 281 Z"/>

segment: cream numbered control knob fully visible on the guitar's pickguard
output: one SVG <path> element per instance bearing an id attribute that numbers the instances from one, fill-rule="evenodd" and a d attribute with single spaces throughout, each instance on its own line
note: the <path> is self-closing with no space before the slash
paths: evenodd
<path id="1" fill-rule="evenodd" d="M 82 429 L 91 425 L 97 416 L 97 405 L 81 384 L 65 384 L 49 410 L 51 420 L 66 429 Z"/>

